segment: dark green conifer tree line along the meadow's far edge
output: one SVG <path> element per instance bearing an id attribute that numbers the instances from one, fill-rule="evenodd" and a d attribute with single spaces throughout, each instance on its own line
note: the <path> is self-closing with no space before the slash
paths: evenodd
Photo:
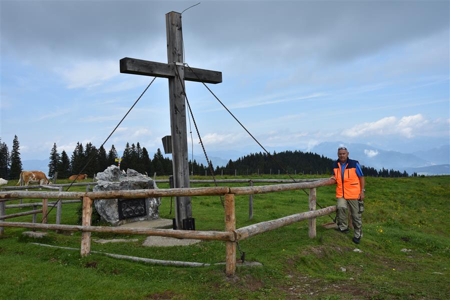
<path id="1" fill-rule="evenodd" d="M 77 142 L 75 149 L 69 157 L 65 150 L 58 152 L 56 143 L 50 150 L 48 163 L 48 177 L 52 178 L 55 171 L 58 172 L 58 178 L 67 178 L 71 174 L 86 173 L 89 177 L 97 172 L 103 171 L 111 164 L 117 164 L 117 150 L 114 145 L 108 152 L 103 146 L 98 149 L 87 142 L 84 146 Z M 282 151 L 279 153 L 250 153 L 248 155 L 229 160 L 225 166 L 211 167 L 189 160 L 189 173 L 195 175 L 210 175 L 210 169 L 214 169 L 216 175 L 251 175 L 251 174 L 330 174 L 333 159 L 312 152 L 302 151 Z M 147 173 L 151 176 L 154 172 L 158 175 L 172 174 L 172 160 L 164 157 L 158 148 L 151 159 L 145 147 L 140 143 L 127 142 L 123 150 L 120 161 L 121 169 L 132 168 L 139 173 Z M 373 167 L 361 165 L 365 176 L 375 177 L 407 177 L 406 171 L 400 172 L 394 169 L 376 170 Z M 22 171 L 22 162 L 20 160 L 19 141 L 16 135 L 12 141 L 11 151 L 8 151 L 6 143 L 1 142 L 0 138 L 0 177 L 4 179 L 16 179 Z M 417 173 L 411 174 L 417 176 Z"/>

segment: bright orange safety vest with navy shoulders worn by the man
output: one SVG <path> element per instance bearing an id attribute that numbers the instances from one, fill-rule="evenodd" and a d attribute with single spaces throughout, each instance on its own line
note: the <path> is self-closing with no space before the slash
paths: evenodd
<path id="1" fill-rule="evenodd" d="M 359 197 L 361 185 L 356 174 L 356 163 L 358 163 L 357 160 L 347 159 L 342 181 L 341 164 L 339 160 L 334 161 L 333 173 L 337 181 L 336 198 L 357 199 Z"/>

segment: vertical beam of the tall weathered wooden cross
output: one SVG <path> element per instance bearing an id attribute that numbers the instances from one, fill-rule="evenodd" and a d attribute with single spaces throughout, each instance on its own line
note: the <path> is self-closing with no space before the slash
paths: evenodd
<path id="1" fill-rule="evenodd" d="M 165 26 L 167 32 L 167 64 L 174 64 L 175 67 L 175 76 L 168 78 L 173 186 L 189 187 L 181 13 L 175 11 L 166 13 Z M 180 62 L 181 65 L 177 65 L 176 62 Z M 190 217 L 192 217 L 190 197 L 175 197 L 176 228 L 183 228 L 183 219 Z"/>

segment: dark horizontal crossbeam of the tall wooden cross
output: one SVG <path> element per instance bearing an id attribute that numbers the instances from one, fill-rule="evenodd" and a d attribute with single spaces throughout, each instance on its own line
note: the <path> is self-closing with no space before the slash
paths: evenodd
<path id="1" fill-rule="evenodd" d="M 164 78 L 174 77 L 176 74 L 175 66 L 172 63 L 155 62 L 129 57 L 120 59 L 120 73 Z M 195 67 L 185 67 L 184 80 L 214 84 L 220 83 L 222 82 L 222 72 Z"/>

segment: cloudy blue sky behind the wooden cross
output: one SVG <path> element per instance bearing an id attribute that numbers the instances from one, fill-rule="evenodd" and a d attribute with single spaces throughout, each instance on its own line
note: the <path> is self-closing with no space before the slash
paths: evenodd
<path id="1" fill-rule="evenodd" d="M 0 137 L 23 159 L 99 147 L 166 62 L 165 13 L 198 1 L 0 1 Z M 449 1 L 201 1 L 182 13 L 185 62 L 267 149 L 320 142 L 412 152 L 449 144 Z M 261 149 L 199 82 L 186 94 L 206 152 Z M 189 152 L 202 155 L 192 120 Z M 156 78 L 105 143 L 151 153 L 170 134 Z M 191 153 L 189 153 L 191 155 Z M 231 154 L 230 154 L 231 155 Z M 228 158 L 228 157 L 222 157 Z M 229 157 L 231 158 L 231 157 Z"/>

